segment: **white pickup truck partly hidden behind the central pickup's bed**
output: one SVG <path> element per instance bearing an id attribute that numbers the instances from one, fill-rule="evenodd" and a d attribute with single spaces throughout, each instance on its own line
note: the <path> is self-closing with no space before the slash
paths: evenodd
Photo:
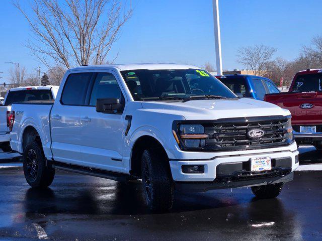
<path id="1" fill-rule="evenodd" d="M 24 86 L 8 91 L 3 105 L 0 105 L 0 148 L 4 152 L 11 151 L 9 139 L 9 113 L 13 102 L 30 100 L 55 99 L 59 86 Z"/>

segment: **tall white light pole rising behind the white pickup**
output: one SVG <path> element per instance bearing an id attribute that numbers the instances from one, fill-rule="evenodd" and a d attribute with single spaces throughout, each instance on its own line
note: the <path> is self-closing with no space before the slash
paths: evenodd
<path id="1" fill-rule="evenodd" d="M 214 31 L 215 31 L 215 49 L 216 49 L 217 75 L 222 75 L 218 0 L 212 0 L 212 10 L 213 10 L 213 26 L 214 26 Z"/>

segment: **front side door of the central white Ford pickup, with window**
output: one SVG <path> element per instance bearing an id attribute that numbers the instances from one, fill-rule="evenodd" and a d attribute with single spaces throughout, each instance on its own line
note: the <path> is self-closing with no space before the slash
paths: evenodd
<path id="1" fill-rule="evenodd" d="M 82 162 L 93 168 L 125 172 L 122 160 L 123 111 L 101 113 L 95 107 L 98 98 L 118 98 L 124 102 L 120 86 L 112 72 L 104 72 L 95 74 L 90 88 L 88 106 L 80 115 Z"/>

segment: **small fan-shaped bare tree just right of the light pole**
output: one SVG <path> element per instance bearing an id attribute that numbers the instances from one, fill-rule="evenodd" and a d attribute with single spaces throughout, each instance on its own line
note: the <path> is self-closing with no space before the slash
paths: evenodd
<path id="1" fill-rule="evenodd" d="M 261 45 L 241 47 L 237 50 L 237 62 L 244 66 L 249 66 L 255 75 L 262 74 L 265 63 L 268 62 L 276 48 Z"/>

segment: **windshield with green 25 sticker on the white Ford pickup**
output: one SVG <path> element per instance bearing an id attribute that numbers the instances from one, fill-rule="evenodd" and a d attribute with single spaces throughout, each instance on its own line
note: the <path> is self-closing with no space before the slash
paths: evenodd
<path id="1" fill-rule="evenodd" d="M 236 96 L 218 79 L 200 69 L 127 70 L 121 74 L 134 100 Z"/>

